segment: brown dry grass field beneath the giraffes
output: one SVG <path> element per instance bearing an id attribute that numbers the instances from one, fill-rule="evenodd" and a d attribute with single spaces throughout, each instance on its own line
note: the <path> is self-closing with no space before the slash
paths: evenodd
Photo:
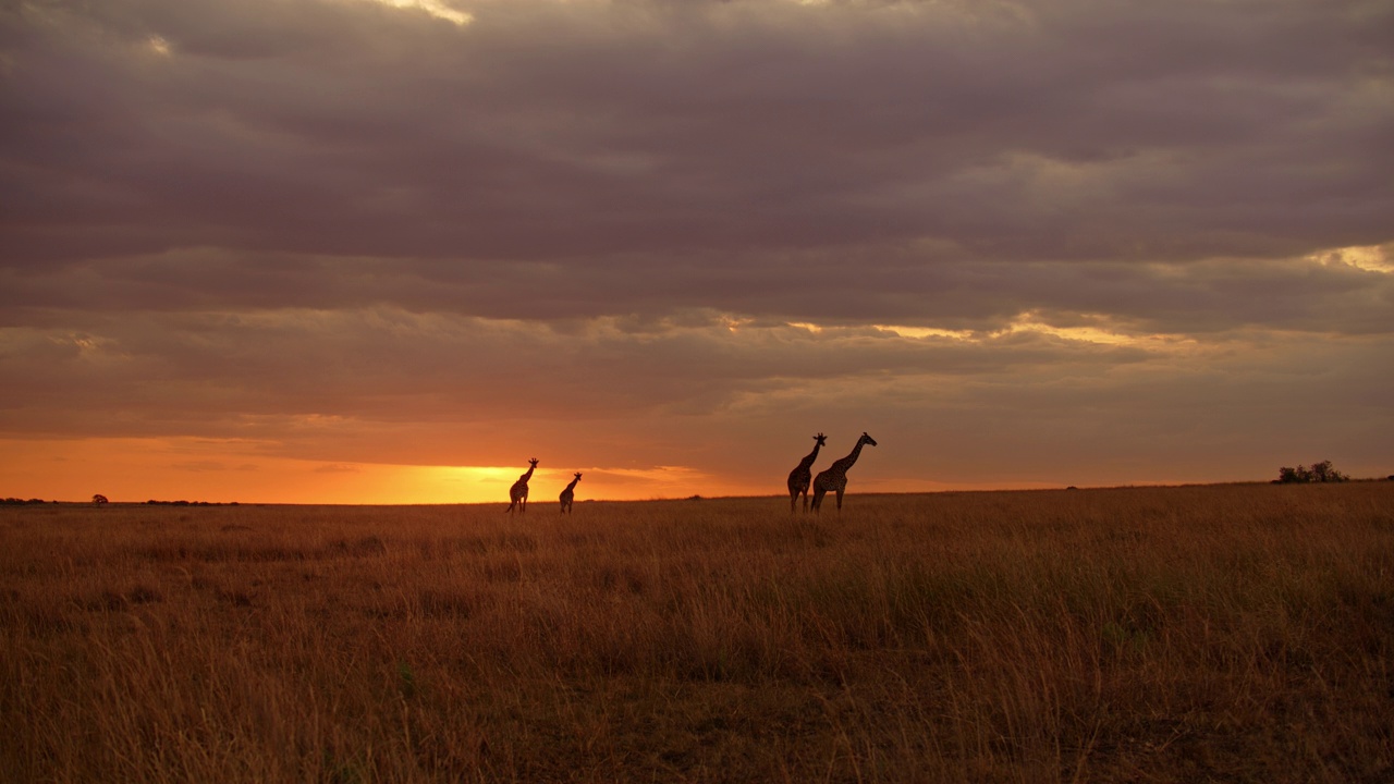
<path id="1" fill-rule="evenodd" d="M 1394 780 L 1390 481 L 505 506 L 0 508 L 0 780 Z"/>

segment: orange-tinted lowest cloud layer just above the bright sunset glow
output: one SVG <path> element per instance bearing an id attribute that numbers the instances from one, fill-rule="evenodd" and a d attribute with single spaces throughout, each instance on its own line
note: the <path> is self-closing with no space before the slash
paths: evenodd
<path id="1" fill-rule="evenodd" d="M 680 442 L 697 442 L 701 431 L 736 438 L 750 423 L 855 419 L 852 428 L 873 420 L 901 434 L 923 421 L 995 423 L 988 441 L 998 445 L 1012 432 L 1055 432 L 1051 423 L 1076 434 L 1078 423 L 1092 421 L 1115 435 L 1151 437 L 1196 417 L 1207 428 L 1263 430 L 1291 409 L 1317 428 L 1355 410 L 1379 414 L 1376 391 L 1390 384 L 1380 361 L 1387 335 L 1344 345 L 1257 331 L 1206 342 L 1083 331 L 1086 339 L 1026 324 L 903 338 L 697 315 L 627 326 L 601 321 L 559 333 L 403 311 L 125 318 L 102 339 L 32 333 L 26 349 L 8 352 L 15 385 L 0 423 L 107 437 L 195 428 L 263 439 L 272 453 L 305 459 L 390 453 L 445 465 L 507 465 L 513 444 L 538 441 L 576 452 L 573 460 L 587 459 L 581 444 L 618 460 L 618 442 L 645 432 L 654 442 L 626 459 L 647 467 L 671 465 L 673 451 L 700 453 Z M 654 423 L 672 419 L 665 428 L 673 435 L 664 437 Z M 1295 427 L 1282 421 L 1280 430 Z M 466 432 L 477 437 L 459 442 Z"/>

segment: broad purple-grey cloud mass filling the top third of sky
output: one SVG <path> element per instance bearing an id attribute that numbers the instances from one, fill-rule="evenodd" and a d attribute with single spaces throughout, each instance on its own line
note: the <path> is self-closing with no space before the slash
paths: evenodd
<path id="1" fill-rule="evenodd" d="M 8 261 L 888 240 L 1171 261 L 1387 239 L 1370 31 L 1391 14 L 1368 4 L 460 7 L 474 24 L 374 3 L 21 24 L 7 148 L 29 165 L 7 179 L 32 198 Z"/>

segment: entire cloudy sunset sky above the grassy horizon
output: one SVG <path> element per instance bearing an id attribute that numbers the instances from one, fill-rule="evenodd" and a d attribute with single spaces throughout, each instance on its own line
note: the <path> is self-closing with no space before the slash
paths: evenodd
<path id="1" fill-rule="evenodd" d="M 18 0 L 0 497 L 1394 473 L 1387 0 Z"/>

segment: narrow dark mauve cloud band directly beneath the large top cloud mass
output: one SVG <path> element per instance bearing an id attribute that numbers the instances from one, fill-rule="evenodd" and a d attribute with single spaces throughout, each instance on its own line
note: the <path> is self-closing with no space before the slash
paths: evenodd
<path id="1" fill-rule="evenodd" d="M 1342 261 L 1363 258 L 1365 266 Z M 1388 331 L 1387 247 L 1299 258 L 1052 262 L 941 258 L 935 247 L 580 259 L 574 264 L 268 257 L 195 248 L 45 273 L 0 271 L 0 304 L 28 324 L 56 311 L 371 310 L 548 322 L 686 318 L 892 322 L 993 331 L 1025 312 L 1066 326 L 1190 335 L 1243 325 Z M 650 272 L 650 271 L 661 271 Z M 856 272 L 856 282 L 825 283 Z M 46 315 L 49 314 L 49 315 Z M 217 317 L 213 317 L 215 319 Z M 640 321 L 631 321 L 638 324 Z"/>

